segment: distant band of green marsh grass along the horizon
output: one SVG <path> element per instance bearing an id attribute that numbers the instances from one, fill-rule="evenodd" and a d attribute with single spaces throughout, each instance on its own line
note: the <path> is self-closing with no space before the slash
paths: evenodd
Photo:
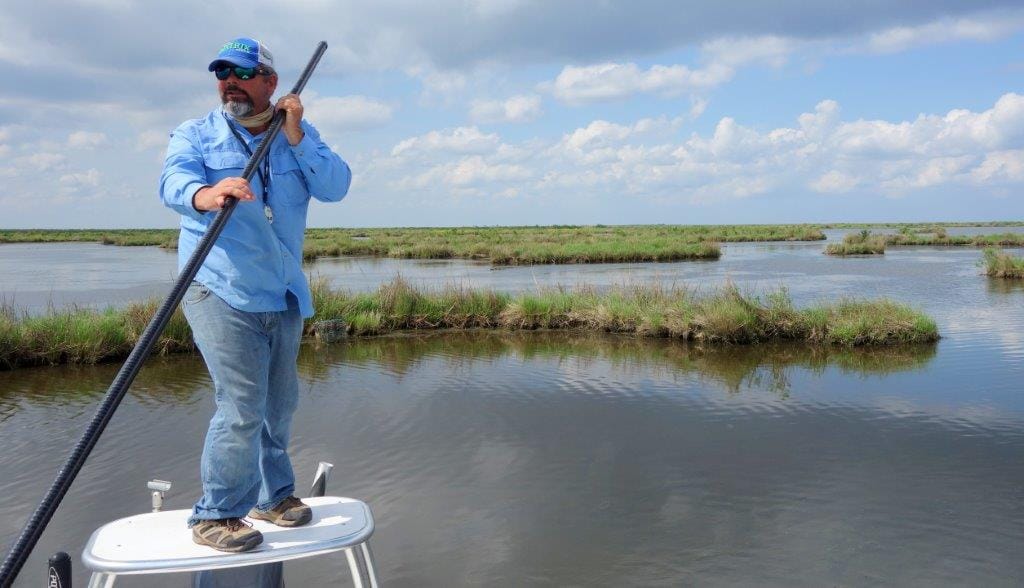
<path id="1" fill-rule="evenodd" d="M 1022 222 L 465 226 L 444 228 L 310 228 L 303 257 L 370 255 L 407 259 L 479 259 L 495 265 L 713 260 L 721 243 L 819 241 L 821 227 L 862 228 L 831 255 L 881 254 L 888 246 L 1024 247 L 1024 234 L 949 236 L 951 226 L 1020 226 Z M 891 227 L 895 235 L 870 235 L 867 227 Z M 868 235 L 868 237 L 863 237 Z M 176 229 L 0 230 L 0 243 L 94 242 L 106 245 L 177 247 Z"/>

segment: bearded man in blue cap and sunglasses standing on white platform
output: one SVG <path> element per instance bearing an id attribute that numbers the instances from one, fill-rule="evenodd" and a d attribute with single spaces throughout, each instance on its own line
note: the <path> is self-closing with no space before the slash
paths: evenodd
<path id="1" fill-rule="evenodd" d="M 234 39 L 209 70 L 222 104 L 171 134 L 160 197 L 181 214 L 179 269 L 226 199 L 240 201 L 182 309 L 216 402 L 201 462 L 203 497 L 188 526 L 196 543 L 246 551 L 263 540 L 243 520 L 247 514 L 283 527 L 311 518 L 294 496 L 288 457 L 302 319 L 313 313 L 302 240 L 310 196 L 341 200 L 351 172 L 302 120 L 298 95 L 271 106 L 278 75 L 265 45 Z M 275 108 L 286 113 L 282 132 L 248 182 L 242 170 Z"/>

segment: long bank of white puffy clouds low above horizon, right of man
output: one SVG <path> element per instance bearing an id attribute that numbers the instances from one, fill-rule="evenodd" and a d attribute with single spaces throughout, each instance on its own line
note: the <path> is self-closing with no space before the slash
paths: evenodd
<path id="1" fill-rule="evenodd" d="M 821 100 L 792 126 L 760 130 L 723 117 L 680 136 L 677 118 L 596 120 L 556 140 L 504 142 L 460 127 L 400 141 L 369 183 L 443 195 L 635 197 L 696 205 L 771 195 L 903 197 L 939 187 L 1024 183 L 1024 96 L 987 110 L 909 121 L 843 121 Z M 416 155 L 417 157 L 409 157 Z M 527 196 L 528 195 L 528 196 Z M 584 196 L 580 196 L 584 195 Z"/>

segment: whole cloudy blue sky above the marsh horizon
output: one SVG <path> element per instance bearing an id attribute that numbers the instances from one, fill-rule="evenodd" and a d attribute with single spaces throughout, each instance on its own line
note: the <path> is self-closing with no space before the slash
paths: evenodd
<path id="1" fill-rule="evenodd" d="M 355 179 L 314 226 L 1018 220 L 1015 4 L 4 6 L 0 227 L 174 226 L 167 134 L 236 36 L 283 88 L 330 44 L 306 114 Z"/>

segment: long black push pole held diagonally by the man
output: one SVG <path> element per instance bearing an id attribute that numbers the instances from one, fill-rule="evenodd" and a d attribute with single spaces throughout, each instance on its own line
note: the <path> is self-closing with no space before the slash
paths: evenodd
<path id="1" fill-rule="evenodd" d="M 327 43 L 321 41 L 313 52 L 313 56 L 306 64 L 306 69 L 299 76 L 299 81 L 292 88 L 293 94 L 302 92 L 302 89 L 306 86 L 306 82 L 309 81 L 309 77 L 312 76 L 313 70 L 316 69 L 316 65 L 319 64 L 321 57 L 324 56 L 325 51 L 327 51 Z M 256 148 L 256 153 L 249 158 L 249 163 L 242 172 L 242 177 L 246 181 L 252 179 L 253 173 L 270 150 L 270 143 L 273 142 L 273 138 L 278 135 L 284 122 L 284 111 L 274 113 L 273 120 L 266 130 L 266 135 L 260 141 L 259 146 Z M 170 321 L 174 309 L 181 302 L 181 298 L 185 295 L 188 285 L 191 284 L 193 279 L 196 278 L 196 274 L 199 272 L 200 266 L 203 265 L 203 261 L 213 248 L 214 242 L 217 241 L 220 233 L 224 229 L 224 224 L 231 217 L 231 212 L 234 211 L 237 204 L 238 200 L 234 198 L 229 197 L 225 200 L 223 208 L 220 209 L 220 212 L 217 213 L 213 222 L 206 229 L 206 235 L 203 236 L 199 245 L 196 246 L 196 251 L 188 258 L 188 262 L 185 263 L 181 275 L 178 276 L 177 282 L 174 283 L 174 287 L 171 288 L 171 293 L 157 310 L 153 320 L 150 321 L 150 325 L 142 331 L 142 336 L 139 337 L 138 343 L 135 344 L 131 353 L 128 354 L 128 359 L 121 366 L 121 370 L 114 378 L 111 387 L 106 390 L 106 395 L 103 396 L 99 409 L 96 411 L 95 416 L 92 417 L 89 427 L 85 430 L 82 438 L 79 439 L 78 445 L 75 446 L 75 450 L 68 458 L 68 461 L 65 462 L 63 467 L 60 468 L 56 479 L 50 485 L 50 489 L 46 492 L 46 496 L 39 503 L 39 506 L 36 507 L 36 511 L 29 517 L 25 529 L 22 530 L 22 535 L 7 553 L 7 557 L 4 558 L 3 565 L 0 566 L 0 587 L 9 588 L 14 583 L 17 573 L 25 565 L 25 561 L 29 558 L 32 548 L 36 546 L 39 537 L 43 534 L 43 530 L 46 529 L 50 518 L 53 517 L 57 506 L 60 505 L 60 501 L 68 494 L 72 482 L 75 481 L 75 476 L 78 475 L 82 466 L 85 465 L 85 460 L 89 457 L 89 452 L 92 451 L 96 442 L 99 440 L 99 435 L 103 433 L 106 423 L 114 416 L 114 411 L 117 410 L 118 405 L 121 404 L 122 398 L 124 398 L 125 393 L 128 391 L 128 387 L 131 386 L 132 381 L 135 380 L 135 376 L 138 375 L 139 370 L 142 368 L 142 363 L 150 355 L 157 339 L 164 332 L 164 328 L 167 327 L 167 322 Z"/>

